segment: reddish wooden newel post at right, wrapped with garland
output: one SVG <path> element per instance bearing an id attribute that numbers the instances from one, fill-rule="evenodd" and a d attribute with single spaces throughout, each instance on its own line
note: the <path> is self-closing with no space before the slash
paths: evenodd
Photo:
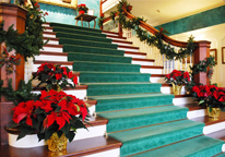
<path id="1" fill-rule="evenodd" d="M 193 63 L 199 63 L 205 58 L 210 57 L 210 45 L 211 41 L 201 40 L 197 43 L 197 49 L 194 50 Z M 201 72 L 193 75 L 193 81 L 196 84 L 210 85 L 210 78 L 206 73 Z"/>

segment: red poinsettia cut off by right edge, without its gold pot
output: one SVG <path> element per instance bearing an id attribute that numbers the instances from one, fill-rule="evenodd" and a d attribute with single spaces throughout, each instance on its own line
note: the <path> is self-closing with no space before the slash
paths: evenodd
<path id="1" fill-rule="evenodd" d="M 215 85 L 196 85 L 191 89 L 199 105 L 204 107 L 224 108 L 225 90 Z"/>

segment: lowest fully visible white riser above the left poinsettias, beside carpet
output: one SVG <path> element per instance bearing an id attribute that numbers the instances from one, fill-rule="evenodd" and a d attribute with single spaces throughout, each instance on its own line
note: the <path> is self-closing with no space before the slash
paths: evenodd
<path id="1" fill-rule="evenodd" d="M 40 55 L 35 56 L 35 60 L 42 60 L 42 61 L 68 61 L 67 56 L 49 56 L 49 55 Z"/>

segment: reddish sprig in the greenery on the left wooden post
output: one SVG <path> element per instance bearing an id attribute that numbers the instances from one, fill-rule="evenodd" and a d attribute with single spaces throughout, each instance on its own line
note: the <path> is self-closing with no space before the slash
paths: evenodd
<path id="1" fill-rule="evenodd" d="M 10 55 L 5 47 L 2 47 L 2 49 L 3 51 L 0 57 L 0 68 L 5 64 L 7 74 L 11 74 L 15 71 L 13 67 L 21 64 L 21 58 L 15 55 Z"/>

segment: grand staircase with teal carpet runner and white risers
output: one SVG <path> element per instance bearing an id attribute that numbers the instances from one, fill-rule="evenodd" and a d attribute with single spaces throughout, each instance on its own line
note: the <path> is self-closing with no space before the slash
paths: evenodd
<path id="1" fill-rule="evenodd" d="M 212 121 L 185 93 L 171 95 L 171 86 L 163 81 L 163 67 L 153 65 L 154 60 L 145 59 L 132 43 L 100 29 L 58 23 L 45 26 L 44 38 L 50 40 L 36 57 L 33 71 L 44 62 L 72 69 L 80 85 L 64 92 L 86 99 L 92 116 L 88 132 L 78 130 L 62 155 L 225 156 L 225 114 Z M 44 152 L 40 147 L 36 155 Z"/>

